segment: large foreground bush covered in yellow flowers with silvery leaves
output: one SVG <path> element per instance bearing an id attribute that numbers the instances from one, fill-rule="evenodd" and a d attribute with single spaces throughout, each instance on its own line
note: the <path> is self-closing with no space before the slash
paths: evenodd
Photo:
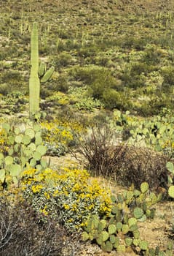
<path id="1" fill-rule="evenodd" d="M 55 219 L 70 232 L 81 230 L 90 214 L 111 212 L 111 193 L 87 170 L 36 170 L 23 172 L 23 197 L 36 212 Z"/>

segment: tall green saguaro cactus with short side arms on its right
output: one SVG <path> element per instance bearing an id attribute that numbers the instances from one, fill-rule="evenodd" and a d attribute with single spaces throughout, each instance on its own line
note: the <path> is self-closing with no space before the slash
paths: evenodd
<path id="1" fill-rule="evenodd" d="M 33 119 L 39 113 L 40 83 L 46 83 L 52 77 L 55 68 L 46 72 L 46 64 L 39 66 L 39 42 L 37 23 L 33 23 L 31 32 L 31 75 L 29 80 L 29 116 Z"/>

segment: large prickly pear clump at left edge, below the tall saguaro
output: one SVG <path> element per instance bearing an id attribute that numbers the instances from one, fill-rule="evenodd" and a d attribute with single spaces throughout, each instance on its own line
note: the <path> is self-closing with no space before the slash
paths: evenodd
<path id="1" fill-rule="evenodd" d="M 16 184 L 20 173 L 28 167 L 38 170 L 47 167 L 47 162 L 42 159 L 47 152 L 47 147 L 42 145 L 38 126 L 27 127 L 24 131 L 20 131 L 19 127 L 9 127 L 8 124 L 4 124 L 2 129 L 6 137 L 10 139 L 1 148 L 1 184 L 8 183 L 7 181 Z M 11 179 L 7 179 L 8 176 Z"/>

